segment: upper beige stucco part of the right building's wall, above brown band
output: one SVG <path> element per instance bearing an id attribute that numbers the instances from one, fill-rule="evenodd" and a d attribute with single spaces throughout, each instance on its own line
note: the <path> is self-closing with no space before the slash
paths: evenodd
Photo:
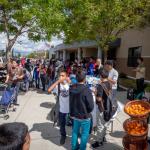
<path id="1" fill-rule="evenodd" d="M 142 56 L 150 57 L 150 27 L 130 29 L 121 34 L 121 46 L 117 51 L 118 58 L 127 58 L 130 47 L 142 46 Z"/>

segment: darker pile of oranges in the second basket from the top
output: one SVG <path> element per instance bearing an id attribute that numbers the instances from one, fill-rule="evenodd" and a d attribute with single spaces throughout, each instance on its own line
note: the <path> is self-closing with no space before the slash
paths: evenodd
<path id="1" fill-rule="evenodd" d="M 146 127 L 143 126 L 142 122 L 128 122 L 126 130 L 130 135 L 140 135 L 145 133 Z"/>

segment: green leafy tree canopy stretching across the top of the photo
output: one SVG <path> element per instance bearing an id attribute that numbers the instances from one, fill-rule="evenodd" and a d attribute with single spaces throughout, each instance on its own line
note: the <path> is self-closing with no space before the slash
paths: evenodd
<path id="1" fill-rule="evenodd" d="M 148 24 L 149 8 L 150 0 L 1 0 L 0 32 L 7 51 L 25 32 L 33 41 L 92 39 L 107 51 L 122 31 Z"/>

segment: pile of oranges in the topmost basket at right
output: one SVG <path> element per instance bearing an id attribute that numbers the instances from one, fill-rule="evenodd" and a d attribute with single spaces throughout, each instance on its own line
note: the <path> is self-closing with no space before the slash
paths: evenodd
<path id="1" fill-rule="evenodd" d="M 145 115 L 146 113 L 148 113 L 148 110 L 141 104 L 130 105 L 126 108 L 126 111 L 131 115 Z"/>

